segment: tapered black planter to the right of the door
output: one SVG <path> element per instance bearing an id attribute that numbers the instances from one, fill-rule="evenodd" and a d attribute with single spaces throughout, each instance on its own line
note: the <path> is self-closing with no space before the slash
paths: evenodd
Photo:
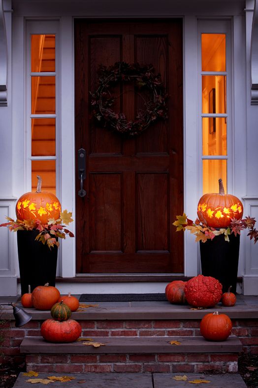
<path id="1" fill-rule="evenodd" d="M 201 272 L 218 279 L 223 292 L 232 286 L 230 291 L 236 293 L 240 235 L 230 234 L 229 242 L 224 237 L 220 234 L 213 240 L 200 241 Z"/>

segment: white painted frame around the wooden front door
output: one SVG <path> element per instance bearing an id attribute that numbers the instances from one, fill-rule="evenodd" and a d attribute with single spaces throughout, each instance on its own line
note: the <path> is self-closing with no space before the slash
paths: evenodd
<path id="1" fill-rule="evenodd" d="M 81 17 L 78 17 L 81 19 Z M 175 16 L 178 19 L 178 17 Z M 75 172 L 75 159 L 73 157 L 71 161 L 65 157 L 65 155 L 74 154 L 74 25 L 73 17 L 62 17 L 61 18 L 61 90 L 62 90 L 62 101 L 61 101 L 61 112 L 62 112 L 62 179 L 61 179 L 61 193 L 62 193 L 62 205 L 63 208 L 72 210 L 73 216 L 75 217 L 75 190 L 70 188 L 75 187 L 75 180 L 77 175 Z M 76 18 L 77 19 L 77 18 Z M 91 20 L 92 18 L 85 18 Z M 96 19 L 96 18 L 95 18 Z M 110 20 L 112 18 L 101 18 L 99 20 Z M 120 18 L 121 20 L 123 18 Z M 134 19 L 131 17 L 131 19 Z M 173 18 L 153 18 L 166 20 Z M 128 18 L 127 18 L 128 20 Z M 197 26 L 195 16 L 186 16 L 183 18 L 183 127 L 184 127 L 184 209 L 186 211 L 196 207 L 197 203 L 197 186 L 199 174 L 197 171 L 197 110 L 196 106 L 192 103 L 196 99 L 197 90 Z M 71 39 L 72 37 L 72 39 Z M 64 38 L 64 39 L 63 39 Z M 73 91 L 71 96 L 71 90 Z M 72 108 L 70 108 L 70 101 L 72 99 Z M 188 109 L 186 110 L 186 106 Z M 71 130 L 72 128 L 72 130 Z M 186 129 L 187 132 L 186 132 Z M 197 182 L 197 185 L 196 185 Z M 191 189 L 190 189 L 191 188 Z M 72 203 L 72 209 L 71 209 Z M 75 225 L 73 223 L 73 231 L 75 231 Z M 190 233 L 185 233 L 184 236 L 184 275 L 194 276 L 198 272 L 198 254 L 197 244 L 195 243 L 193 236 Z M 72 258 L 72 260 L 71 260 Z M 62 268 L 61 276 L 63 277 L 75 277 L 75 239 L 67 239 L 65 241 L 65 249 L 62 252 Z M 152 281 L 154 281 L 155 274 L 151 274 Z M 171 274 L 172 275 L 172 274 Z M 85 280 L 88 275 L 84 275 Z M 94 275 L 89 275 L 92 279 Z M 130 277 L 132 274 L 129 275 Z M 135 275 L 135 279 L 139 275 Z M 157 276 L 160 276 L 160 274 Z M 108 281 L 108 275 L 106 281 Z M 124 276 L 123 276 L 124 277 Z M 102 277 L 103 278 L 103 277 Z M 158 277 L 157 277 L 158 278 Z M 160 279 L 160 277 L 159 277 Z M 104 281 L 104 278 L 103 278 Z M 113 280 L 115 281 L 114 278 Z M 121 280 L 119 280 L 121 281 Z M 125 276 L 125 280 L 126 276 Z"/>

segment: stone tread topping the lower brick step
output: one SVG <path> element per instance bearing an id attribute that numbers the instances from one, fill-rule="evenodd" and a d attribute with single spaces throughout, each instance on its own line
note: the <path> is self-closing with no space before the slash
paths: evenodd
<path id="1" fill-rule="evenodd" d="M 21 343 L 23 353 L 230 353 L 240 352 L 242 344 L 238 337 L 226 341 L 211 342 L 203 337 L 95 337 L 93 342 L 103 343 L 98 348 L 73 343 L 50 343 L 42 337 L 25 337 Z M 170 341 L 180 345 L 171 345 Z M 86 338 L 85 338 L 85 341 Z"/>

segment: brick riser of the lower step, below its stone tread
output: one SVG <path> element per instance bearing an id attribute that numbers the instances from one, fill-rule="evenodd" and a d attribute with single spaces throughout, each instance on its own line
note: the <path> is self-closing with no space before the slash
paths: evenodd
<path id="1" fill-rule="evenodd" d="M 237 372 L 238 354 L 44 354 L 27 355 L 37 372 Z"/>

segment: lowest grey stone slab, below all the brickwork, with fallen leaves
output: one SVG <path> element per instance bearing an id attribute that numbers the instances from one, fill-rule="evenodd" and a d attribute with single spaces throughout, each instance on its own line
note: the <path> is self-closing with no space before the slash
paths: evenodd
<path id="1" fill-rule="evenodd" d="M 186 381 L 179 381 L 178 387 L 189 388 L 189 381 L 193 380 L 208 380 L 207 384 L 209 388 L 247 388 L 243 379 L 239 374 L 221 374 L 221 375 L 206 375 L 202 373 L 154 373 L 153 380 L 151 373 L 39 373 L 37 377 L 23 376 L 20 373 L 14 388 L 28 388 L 26 380 L 29 379 L 47 379 L 48 376 L 71 376 L 75 379 L 62 383 L 60 381 L 51 383 L 51 387 L 74 387 L 75 383 L 84 382 L 83 387 L 90 388 L 171 388 L 175 387 L 176 381 L 173 379 L 175 376 L 187 376 Z M 192 384 L 194 386 L 194 384 Z M 203 385 L 203 384 L 201 384 Z M 204 384 L 205 385 L 205 384 Z M 195 386 L 199 386 L 196 384 Z"/>

